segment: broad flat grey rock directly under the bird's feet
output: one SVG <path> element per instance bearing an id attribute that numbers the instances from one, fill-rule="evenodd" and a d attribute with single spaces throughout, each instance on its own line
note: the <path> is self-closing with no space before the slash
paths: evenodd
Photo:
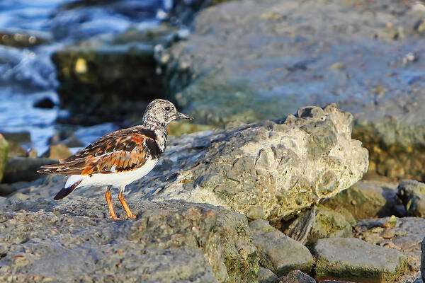
<path id="1" fill-rule="evenodd" d="M 210 204 L 129 200 L 138 218 L 113 221 L 102 195 L 2 205 L 0 280 L 257 281 L 256 249 L 242 214 Z"/>

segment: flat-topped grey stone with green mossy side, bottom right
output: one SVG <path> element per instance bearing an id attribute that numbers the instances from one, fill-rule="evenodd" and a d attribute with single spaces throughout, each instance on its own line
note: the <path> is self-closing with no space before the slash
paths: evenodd
<path id="1" fill-rule="evenodd" d="M 317 280 L 394 282 L 407 269 L 398 250 L 371 245 L 356 238 L 326 238 L 314 246 Z"/>

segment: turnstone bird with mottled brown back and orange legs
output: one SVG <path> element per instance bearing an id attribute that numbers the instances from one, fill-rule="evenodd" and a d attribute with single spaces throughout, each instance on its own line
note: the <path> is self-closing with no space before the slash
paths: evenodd
<path id="1" fill-rule="evenodd" d="M 157 165 L 166 149 L 167 125 L 175 119 L 193 117 L 178 112 L 168 100 L 155 99 L 147 105 L 142 125 L 110 132 L 59 163 L 41 166 L 38 173 L 69 175 L 54 200 L 61 200 L 79 187 L 107 187 L 105 197 L 111 219 L 119 219 L 111 200 L 111 189 L 118 188 L 125 219 L 135 219 L 125 202 L 125 186 Z"/>

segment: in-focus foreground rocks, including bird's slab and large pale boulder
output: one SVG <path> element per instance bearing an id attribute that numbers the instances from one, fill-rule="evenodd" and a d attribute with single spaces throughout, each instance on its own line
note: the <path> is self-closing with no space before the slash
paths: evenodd
<path id="1" fill-rule="evenodd" d="M 0 278 L 402 282 L 418 276 L 422 222 L 406 216 L 425 213 L 425 185 L 358 182 L 368 151 L 351 139 L 352 121 L 335 105 L 309 106 L 280 120 L 171 137 L 157 168 L 129 187 L 135 221 L 108 219 L 101 189 L 53 201 L 62 176 L 13 183 L 14 192 L 0 197 Z"/>

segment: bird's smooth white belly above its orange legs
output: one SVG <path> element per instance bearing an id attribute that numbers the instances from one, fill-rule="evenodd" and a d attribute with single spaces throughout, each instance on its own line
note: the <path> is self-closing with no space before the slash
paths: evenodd
<path id="1" fill-rule="evenodd" d="M 112 185 L 113 187 L 125 187 L 135 180 L 142 178 L 147 175 L 152 169 L 157 165 L 158 160 L 148 159 L 146 163 L 133 171 L 126 171 L 120 173 L 109 173 L 109 174 L 92 174 L 91 176 L 84 176 L 82 182 L 78 187 L 86 186 L 108 186 Z M 72 177 L 77 177 L 77 175 L 72 175 Z M 81 176 L 79 176 L 81 178 Z M 81 180 L 81 179 L 80 179 Z M 68 182 L 67 182 L 68 183 Z"/>

